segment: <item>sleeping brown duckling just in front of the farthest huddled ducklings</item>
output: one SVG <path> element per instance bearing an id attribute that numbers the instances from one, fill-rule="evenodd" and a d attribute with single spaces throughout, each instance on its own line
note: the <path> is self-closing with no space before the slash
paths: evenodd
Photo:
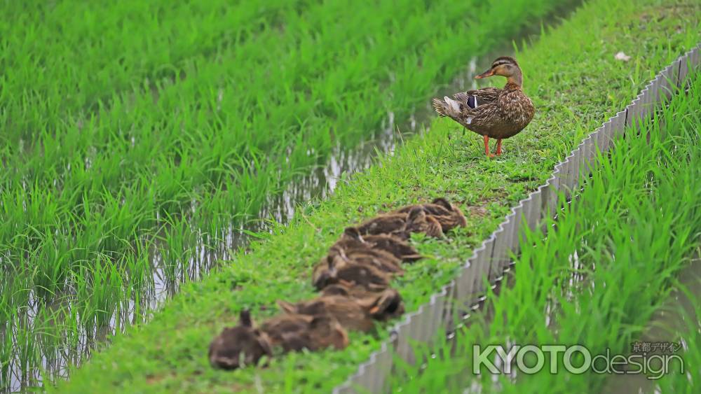
<path id="1" fill-rule="evenodd" d="M 404 262 L 414 262 L 421 259 L 416 248 L 407 242 L 390 234 L 374 234 L 362 237 L 358 227 L 346 227 L 341 239 L 334 246 L 339 248 L 372 248 L 391 253 Z M 332 248 L 334 247 L 332 246 Z"/>

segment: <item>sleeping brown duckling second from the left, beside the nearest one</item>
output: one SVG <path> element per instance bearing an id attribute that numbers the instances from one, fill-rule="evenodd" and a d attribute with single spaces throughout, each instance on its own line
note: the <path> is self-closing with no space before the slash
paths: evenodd
<path id="1" fill-rule="evenodd" d="M 283 314 L 275 316 L 261 325 L 273 346 L 281 346 L 284 352 L 308 349 L 317 351 L 333 347 L 345 349 L 348 334 L 332 315 L 320 311 L 318 314 Z"/>

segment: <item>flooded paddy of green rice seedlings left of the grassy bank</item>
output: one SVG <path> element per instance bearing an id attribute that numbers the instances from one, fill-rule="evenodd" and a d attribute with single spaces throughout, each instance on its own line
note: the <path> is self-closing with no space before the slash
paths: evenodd
<path id="1" fill-rule="evenodd" d="M 559 3 L 0 1 L 0 388 L 142 321 L 155 269 L 198 279 L 296 174 Z"/>

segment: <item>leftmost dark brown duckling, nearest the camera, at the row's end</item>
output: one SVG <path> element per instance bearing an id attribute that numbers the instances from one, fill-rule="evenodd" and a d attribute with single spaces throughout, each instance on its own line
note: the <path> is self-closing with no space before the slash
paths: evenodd
<path id="1" fill-rule="evenodd" d="M 273 356 L 271 339 L 253 327 L 248 310 L 240 312 L 236 327 L 224 328 L 210 343 L 210 364 L 223 370 L 256 365 L 263 356 Z"/>

